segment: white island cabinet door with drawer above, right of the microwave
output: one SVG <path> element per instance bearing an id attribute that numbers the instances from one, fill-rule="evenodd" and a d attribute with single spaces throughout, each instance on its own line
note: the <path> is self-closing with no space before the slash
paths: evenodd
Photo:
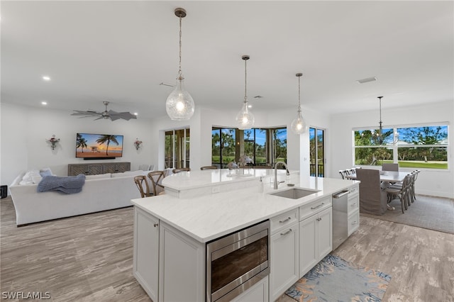
<path id="1" fill-rule="evenodd" d="M 299 279 L 298 209 L 271 219 L 270 301 Z M 273 229 L 274 226 L 274 229 Z"/>

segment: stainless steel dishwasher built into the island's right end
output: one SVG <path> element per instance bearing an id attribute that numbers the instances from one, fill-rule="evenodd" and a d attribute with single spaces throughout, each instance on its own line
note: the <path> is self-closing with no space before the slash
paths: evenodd
<path id="1" fill-rule="evenodd" d="M 348 238 L 348 194 L 345 190 L 333 194 L 333 250 Z"/>

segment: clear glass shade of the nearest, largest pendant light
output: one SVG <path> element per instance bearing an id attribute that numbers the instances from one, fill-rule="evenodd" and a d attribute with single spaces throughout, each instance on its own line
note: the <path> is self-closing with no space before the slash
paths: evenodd
<path id="1" fill-rule="evenodd" d="M 188 91 L 184 90 L 184 78 L 177 79 L 175 90 L 165 101 L 165 110 L 172 121 L 189 120 L 194 114 L 194 100 Z"/>

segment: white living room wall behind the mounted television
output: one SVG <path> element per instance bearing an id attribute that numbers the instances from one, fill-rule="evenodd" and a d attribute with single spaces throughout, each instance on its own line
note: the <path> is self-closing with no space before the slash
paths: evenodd
<path id="1" fill-rule="evenodd" d="M 78 132 L 124 135 L 123 157 L 109 162 L 131 162 L 132 170 L 138 169 L 139 164 L 154 164 L 151 150 L 155 142 L 150 135 L 150 120 L 93 121 L 70 116 L 70 113 L 1 104 L 1 184 L 11 184 L 18 174 L 28 169 L 50 167 L 57 175 L 67 175 L 67 164 L 84 162 L 75 158 Z M 53 134 L 60 138 L 55 150 L 46 142 Z M 139 150 L 133 145 L 135 138 L 143 141 Z"/>

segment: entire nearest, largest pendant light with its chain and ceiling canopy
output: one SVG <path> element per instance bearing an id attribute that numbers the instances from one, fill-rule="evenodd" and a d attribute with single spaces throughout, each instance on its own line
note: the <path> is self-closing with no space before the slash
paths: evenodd
<path id="1" fill-rule="evenodd" d="M 175 9 L 175 16 L 179 18 L 179 69 L 177 86 L 167 97 L 165 110 L 173 121 L 187 121 L 194 114 L 194 100 L 188 91 L 184 90 L 182 75 L 182 18 L 186 16 L 184 9 Z"/>

